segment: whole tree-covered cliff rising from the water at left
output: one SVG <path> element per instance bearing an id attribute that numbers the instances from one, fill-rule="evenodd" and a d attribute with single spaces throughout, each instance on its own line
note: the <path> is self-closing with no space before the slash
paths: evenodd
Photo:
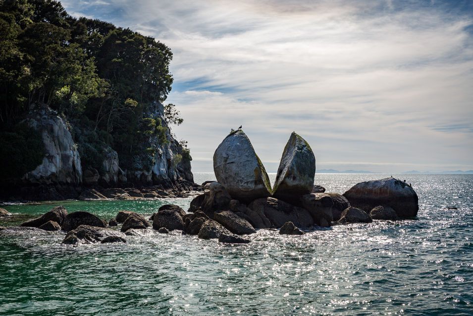
<path id="1" fill-rule="evenodd" d="M 193 182 L 163 105 L 170 49 L 67 14 L 59 1 L 0 0 L 0 181 L 5 186 Z"/>

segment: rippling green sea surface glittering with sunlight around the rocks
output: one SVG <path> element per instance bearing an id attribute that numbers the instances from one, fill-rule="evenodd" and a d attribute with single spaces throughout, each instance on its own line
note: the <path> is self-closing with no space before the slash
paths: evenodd
<path id="1" fill-rule="evenodd" d="M 316 174 L 315 183 L 343 193 L 386 176 Z M 304 236 L 260 230 L 240 246 L 157 233 L 79 247 L 61 245 L 64 233 L 1 236 L 0 315 L 473 315 L 473 175 L 393 176 L 418 193 L 417 219 Z M 7 205 L 16 219 L 0 225 L 61 204 L 108 220 L 190 201 Z"/>

